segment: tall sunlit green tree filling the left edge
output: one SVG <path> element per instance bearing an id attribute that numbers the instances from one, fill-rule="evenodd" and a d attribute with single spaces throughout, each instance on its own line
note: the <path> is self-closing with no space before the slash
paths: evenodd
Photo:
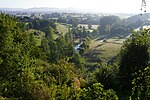
<path id="1" fill-rule="evenodd" d="M 22 31 L 15 18 L 0 14 L 0 27 L 0 94 L 32 98 L 35 45 L 30 43 L 30 36 Z"/>

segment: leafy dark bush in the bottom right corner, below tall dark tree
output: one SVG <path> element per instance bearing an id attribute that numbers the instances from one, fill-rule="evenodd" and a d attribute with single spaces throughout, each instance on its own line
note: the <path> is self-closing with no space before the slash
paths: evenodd
<path id="1" fill-rule="evenodd" d="M 146 67 L 143 71 L 139 70 L 135 73 L 132 81 L 132 95 L 130 99 L 133 100 L 149 100 L 150 99 L 150 67 Z"/>

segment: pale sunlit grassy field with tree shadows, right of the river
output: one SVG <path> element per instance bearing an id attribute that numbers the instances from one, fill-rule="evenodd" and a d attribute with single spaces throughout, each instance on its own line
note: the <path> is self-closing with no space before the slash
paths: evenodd
<path id="1" fill-rule="evenodd" d="M 93 56 L 96 55 L 104 62 L 108 62 L 113 59 L 121 50 L 125 39 L 93 39 L 90 44 L 90 48 L 86 53 Z"/>

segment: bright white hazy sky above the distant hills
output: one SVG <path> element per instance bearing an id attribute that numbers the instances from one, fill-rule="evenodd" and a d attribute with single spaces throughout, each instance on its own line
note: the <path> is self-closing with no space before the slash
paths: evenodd
<path id="1" fill-rule="evenodd" d="M 150 12 L 147 0 L 147 12 Z M 0 0 L 0 7 L 7 8 L 82 8 L 99 12 L 139 13 L 142 0 Z"/>

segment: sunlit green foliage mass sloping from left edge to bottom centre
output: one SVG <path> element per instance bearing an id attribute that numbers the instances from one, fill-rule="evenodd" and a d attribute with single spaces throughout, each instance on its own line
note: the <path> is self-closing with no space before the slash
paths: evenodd
<path id="1" fill-rule="evenodd" d="M 42 23 L 32 27 L 45 32 L 37 45 L 42 33 L 29 32 L 16 18 L 0 14 L 0 99 L 118 99 L 100 83 L 88 87 L 79 70 L 84 60 L 74 51 L 71 33 L 54 38 L 54 28 L 47 23 L 41 30 Z"/>

